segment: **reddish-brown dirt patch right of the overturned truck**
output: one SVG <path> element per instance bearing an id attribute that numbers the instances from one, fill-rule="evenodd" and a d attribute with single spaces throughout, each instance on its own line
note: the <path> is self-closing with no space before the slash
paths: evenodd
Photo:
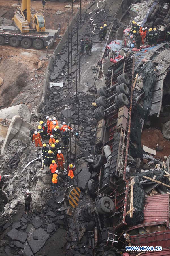
<path id="1" fill-rule="evenodd" d="M 142 134 L 141 134 L 142 147 L 143 145 L 145 145 L 149 148 L 156 150 L 157 144 L 163 146 L 163 150 L 156 152 L 156 158 L 163 159 L 164 156 L 170 155 L 170 141 L 168 141 L 163 137 L 163 134 L 160 130 L 155 128 L 149 128 L 142 131 Z"/>

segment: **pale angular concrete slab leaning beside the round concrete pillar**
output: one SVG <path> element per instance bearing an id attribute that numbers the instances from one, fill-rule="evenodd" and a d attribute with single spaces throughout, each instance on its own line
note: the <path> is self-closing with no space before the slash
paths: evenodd
<path id="1" fill-rule="evenodd" d="M 5 137 L 3 147 L 1 149 L 1 155 L 5 155 L 8 145 L 12 139 L 18 139 L 23 141 L 24 143 L 27 143 L 30 139 L 29 128 L 35 129 L 35 127 L 30 125 L 30 123 L 23 121 L 20 116 L 12 117 L 12 121 L 8 128 L 8 132 Z"/>

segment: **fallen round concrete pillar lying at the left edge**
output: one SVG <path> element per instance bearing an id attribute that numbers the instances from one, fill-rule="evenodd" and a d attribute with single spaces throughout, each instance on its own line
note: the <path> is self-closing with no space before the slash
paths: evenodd
<path id="1" fill-rule="evenodd" d="M 31 112 L 27 105 L 20 104 L 9 108 L 3 108 L 0 110 L 0 118 L 12 119 L 15 115 L 19 115 L 23 120 L 29 122 L 31 119 Z"/>

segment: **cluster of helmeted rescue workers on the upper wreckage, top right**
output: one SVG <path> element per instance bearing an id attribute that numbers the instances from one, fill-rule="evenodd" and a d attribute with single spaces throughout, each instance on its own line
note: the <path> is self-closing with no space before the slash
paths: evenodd
<path id="1" fill-rule="evenodd" d="M 137 24 L 136 21 L 132 21 L 131 26 L 131 33 L 134 36 L 137 49 L 140 49 L 141 43 L 145 45 L 145 42 L 147 42 L 150 45 L 156 45 L 157 39 L 158 39 L 158 30 L 156 28 L 147 28 L 142 27 L 141 25 Z"/>

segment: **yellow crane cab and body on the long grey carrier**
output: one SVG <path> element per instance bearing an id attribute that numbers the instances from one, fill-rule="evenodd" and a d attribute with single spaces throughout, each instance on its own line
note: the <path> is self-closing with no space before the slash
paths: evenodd
<path id="1" fill-rule="evenodd" d="M 44 16 L 31 9 L 31 0 L 22 0 L 21 7 L 17 8 L 12 19 L 21 33 L 28 33 L 31 30 L 45 32 Z"/>

